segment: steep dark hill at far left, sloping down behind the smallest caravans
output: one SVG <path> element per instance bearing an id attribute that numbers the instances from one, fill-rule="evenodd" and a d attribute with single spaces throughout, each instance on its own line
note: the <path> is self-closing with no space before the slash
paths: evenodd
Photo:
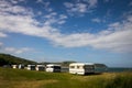
<path id="1" fill-rule="evenodd" d="M 0 54 L 0 66 L 3 65 L 12 65 L 12 64 L 36 64 L 36 62 L 33 61 L 29 61 L 29 59 L 24 59 L 24 58 L 20 58 L 20 57 L 15 57 L 13 55 L 10 54 Z"/>

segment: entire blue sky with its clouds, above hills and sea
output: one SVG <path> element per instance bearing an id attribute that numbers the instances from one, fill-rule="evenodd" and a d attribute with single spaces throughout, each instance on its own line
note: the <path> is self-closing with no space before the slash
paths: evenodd
<path id="1" fill-rule="evenodd" d="M 132 67 L 131 0 L 0 0 L 0 53 Z"/>

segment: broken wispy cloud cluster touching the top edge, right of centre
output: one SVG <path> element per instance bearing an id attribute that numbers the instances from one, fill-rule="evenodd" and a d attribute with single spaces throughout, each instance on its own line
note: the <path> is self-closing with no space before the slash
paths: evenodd
<path id="1" fill-rule="evenodd" d="M 64 2 L 64 6 L 66 7 L 67 12 L 73 15 L 90 12 L 90 10 L 96 7 L 97 2 L 97 0 L 78 0 L 75 2 Z"/>

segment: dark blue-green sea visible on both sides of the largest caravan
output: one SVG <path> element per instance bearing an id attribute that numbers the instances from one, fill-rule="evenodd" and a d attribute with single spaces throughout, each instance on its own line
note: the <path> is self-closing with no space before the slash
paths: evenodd
<path id="1" fill-rule="evenodd" d="M 62 68 L 62 72 L 68 73 L 69 68 Z M 95 68 L 96 73 L 122 73 L 122 72 L 132 72 L 132 68 L 124 67 L 108 67 L 108 68 Z"/>

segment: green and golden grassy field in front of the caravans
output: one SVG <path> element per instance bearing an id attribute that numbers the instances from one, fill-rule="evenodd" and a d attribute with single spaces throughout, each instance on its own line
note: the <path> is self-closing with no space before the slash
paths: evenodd
<path id="1" fill-rule="evenodd" d="M 78 76 L 0 68 L 0 88 L 132 88 L 132 72 Z"/>

